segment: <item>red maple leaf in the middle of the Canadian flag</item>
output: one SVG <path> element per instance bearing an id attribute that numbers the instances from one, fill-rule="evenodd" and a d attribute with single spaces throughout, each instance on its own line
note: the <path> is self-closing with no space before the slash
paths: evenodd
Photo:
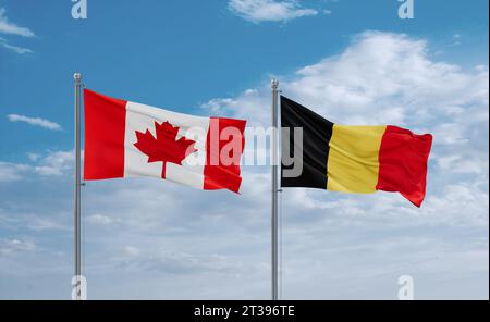
<path id="1" fill-rule="evenodd" d="M 196 141 L 181 137 L 175 140 L 179 127 L 173 126 L 168 121 L 162 124 L 155 122 L 157 138 L 147 129 L 144 134 L 136 131 L 137 141 L 134 146 L 148 156 L 148 163 L 163 161 L 161 177 L 166 177 L 167 162 L 181 164 L 191 153 L 197 151 L 194 148 Z"/>

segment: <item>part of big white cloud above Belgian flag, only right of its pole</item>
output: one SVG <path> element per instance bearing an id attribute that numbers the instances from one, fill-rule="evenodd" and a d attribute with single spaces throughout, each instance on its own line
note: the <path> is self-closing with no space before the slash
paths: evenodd
<path id="1" fill-rule="evenodd" d="M 431 61 L 424 40 L 368 32 L 340 55 L 298 70 L 282 89 L 338 123 L 411 125 L 433 123 L 446 107 L 481 109 L 487 81 L 488 67 L 471 74 Z"/>

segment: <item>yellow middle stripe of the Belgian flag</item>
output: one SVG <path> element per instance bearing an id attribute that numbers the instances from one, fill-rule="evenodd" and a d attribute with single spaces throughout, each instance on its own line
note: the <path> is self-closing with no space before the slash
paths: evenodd
<path id="1" fill-rule="evenodd" d="M 333 191 L 376 191 L 379 148 L 387 126 L 333 125 L 327 164 L 327 188 Z"/>

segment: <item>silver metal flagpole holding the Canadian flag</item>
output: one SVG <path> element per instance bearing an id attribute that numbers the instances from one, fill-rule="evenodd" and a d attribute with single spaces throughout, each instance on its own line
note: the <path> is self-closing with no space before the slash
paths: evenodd
<path id="1" fill-rule="evenodd" d="M 81 220 L 81 89 L 82 74 L 75 73 L 75 210 L 74 210 L 74 230 L 75 230 L 75 285 L 77 300 L 82 299 L 81 276 L 82 276 L 82 220 Z"/>

